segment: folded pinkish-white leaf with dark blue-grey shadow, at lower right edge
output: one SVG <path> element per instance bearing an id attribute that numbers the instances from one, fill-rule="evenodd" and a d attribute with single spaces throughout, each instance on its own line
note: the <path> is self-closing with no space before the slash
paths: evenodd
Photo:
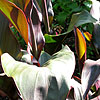
<path id="1" fill-rule="evenodd" d="M 100 59 L 97 61 L 86 60 L 82 71 L 82 89 L 83 98 L 85 99 L 91 86 L 96 82 L 100 75 Z"/>

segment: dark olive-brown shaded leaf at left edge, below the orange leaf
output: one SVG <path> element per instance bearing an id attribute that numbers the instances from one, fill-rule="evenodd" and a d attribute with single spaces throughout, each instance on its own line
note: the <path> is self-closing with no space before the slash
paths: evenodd
<path id="1" fill-rule="evenodd" d="M 20 47 L 15 36 L 9 28 L 9 22 L 0 12 L 0 56 L 7 52 L 14 58 L 21 57 Z"/>

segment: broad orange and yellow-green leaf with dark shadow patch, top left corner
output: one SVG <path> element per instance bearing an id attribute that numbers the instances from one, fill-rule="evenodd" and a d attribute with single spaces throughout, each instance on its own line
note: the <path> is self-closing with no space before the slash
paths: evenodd
<path id="1" fill-rule="evenodd" d="M 0 10 L 15 26 L 28 44 L 28 24 L 23 11 L 7 0 L 0 0 Z"/>

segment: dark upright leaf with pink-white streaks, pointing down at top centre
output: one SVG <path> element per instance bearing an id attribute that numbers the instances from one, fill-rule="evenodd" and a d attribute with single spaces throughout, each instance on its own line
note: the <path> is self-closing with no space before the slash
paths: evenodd
<path id="1" fill-rule="evenodd" d="M 54 16 L 51 0 L 34 0 L 33 2 L 35 4 L 36 8 L 38 9 L 38 11 L 40 12 L 40 14 L 39 14 L 40 18 L 41 18 L 41 16 L 43 18 L 46 32 L 47 33 L 50 32 L 49 23 L 51 25 L 53 16 Z M 48 15 L 49 15 L 49 17 L 48 17 Z"/>

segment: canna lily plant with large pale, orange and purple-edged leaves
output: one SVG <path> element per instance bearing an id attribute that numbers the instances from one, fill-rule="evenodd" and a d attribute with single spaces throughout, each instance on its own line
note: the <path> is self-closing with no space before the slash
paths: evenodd
<path id="1" fill-rule="evenodd" d="M 88 17 L 83 18 L 82 15 Z M 73 20 L 74 18 L 77 20 Z M 0 66 L 3 69 L 1 71 L 4 72 L 0 74 L 1 95 L 8 96 L 11 100 L 99 99 L 100 60 L 86 59 L 85 38 L 92 41 L 92 36 L 77 28 L 85 23 L 94 23 L 96 20 L 87 11 L 83 11 L 72 16 L 67 31 L 69 33 L 74 28 L 80 79 L 73 75 L 75 56 L 67 45 L 52 56 L 42 51 L 45 39 L 41 30 L 41 21 L 44 22 L 46 33 L 49 33 L 52 19 L 53 10 L 50 0 L 0 0 L 2 26 L 0 27 Z M 26 42 L 27 51 L 21 50 L 13 34 L 13 27 Z M 53 39 L 52 36 L 49 37 Z"/>

